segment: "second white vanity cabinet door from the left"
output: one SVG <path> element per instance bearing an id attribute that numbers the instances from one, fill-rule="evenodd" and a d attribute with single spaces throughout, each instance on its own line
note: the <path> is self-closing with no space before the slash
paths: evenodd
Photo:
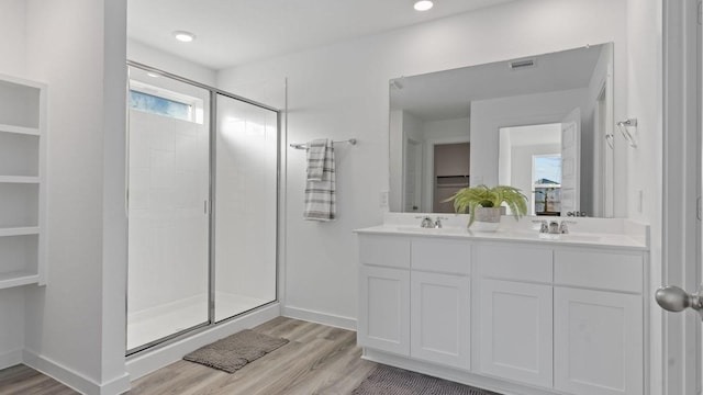
<path id="1" fill-rule="evenodd" d="M 411 348 L 413 358 L 469 369 L 469 278 L 413 271 Z"/>

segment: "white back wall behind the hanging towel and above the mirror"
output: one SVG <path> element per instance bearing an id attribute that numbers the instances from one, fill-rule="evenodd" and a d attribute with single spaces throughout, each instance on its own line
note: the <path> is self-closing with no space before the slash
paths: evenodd
<path id="1" fill-rule="evenodd" d="M 354 325 L 357 245 L 353 230 L 381 222 L 379 192 L 389 185 L 389 79 L 614 42 L 620 83 L 615 105 L 622 114 L 627 69 L 625 3 L 514 2 L 219 72 L 223 89 L 247 80 L 287 77 L 290 142 L 359 139 L 357 146 L 337 149 L 339 218 L 330 224 L 302 221 L 304 155 L 288 151 L 287 313 Z"/>

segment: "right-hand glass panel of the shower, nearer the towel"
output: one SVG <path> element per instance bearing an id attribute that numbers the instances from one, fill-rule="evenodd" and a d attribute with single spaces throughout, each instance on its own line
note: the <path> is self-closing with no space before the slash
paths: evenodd
<path id="1" fill-rule="evenodd" d="M 276 300 L 278 114 L 217 95 L 215 320 Z"/>

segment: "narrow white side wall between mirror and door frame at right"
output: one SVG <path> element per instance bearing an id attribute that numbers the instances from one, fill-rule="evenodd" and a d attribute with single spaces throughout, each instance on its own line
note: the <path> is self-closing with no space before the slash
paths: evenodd
<path id="1" fill-rule="evenodd" d="M 627 184 L 627 213 L 635 219 L 650 225 L 650 290 L 662 284 L 662 0 L 627 0 L 627 116 L 638 119 L 638 148 L 625 147 L 629 154 Z M 617 59 L 615 59 L 617 63 Z M 616 77 L 617 78 L 617 77 Z M 617 81 L 617 80 L 616 80 Z M 617 82 L 616 82 L 617 83 Z M 615 116 L 621 121 L 621 116 Z M 616 132 L 617 133 L 617 132 Z M 626 145 L 622 136 L 616 144 Z M 682 153 L 683 155 L 683 153 Z M 638 191 L 643 191 L 641 212 L 638 210 Z M 673 263 L 676 264 L 676 263 Z M 650 304 L 649 383 L 652 394 L 661 393 L 665 369 L 671 369 L 661 349 L 662 309 Z M 669 364 L 667 364 L 669 362 Z M 679 366 L 674 369 L 680 369 Z"/>

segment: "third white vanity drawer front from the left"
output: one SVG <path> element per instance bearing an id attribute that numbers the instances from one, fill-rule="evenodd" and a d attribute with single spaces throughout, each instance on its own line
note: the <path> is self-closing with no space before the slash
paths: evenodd
<path id="1" fill-rule="evenodd" d="M 477 259 L 482 276 L 551 282 L 551 250 L 513 246 L 480 246 Z"/>

